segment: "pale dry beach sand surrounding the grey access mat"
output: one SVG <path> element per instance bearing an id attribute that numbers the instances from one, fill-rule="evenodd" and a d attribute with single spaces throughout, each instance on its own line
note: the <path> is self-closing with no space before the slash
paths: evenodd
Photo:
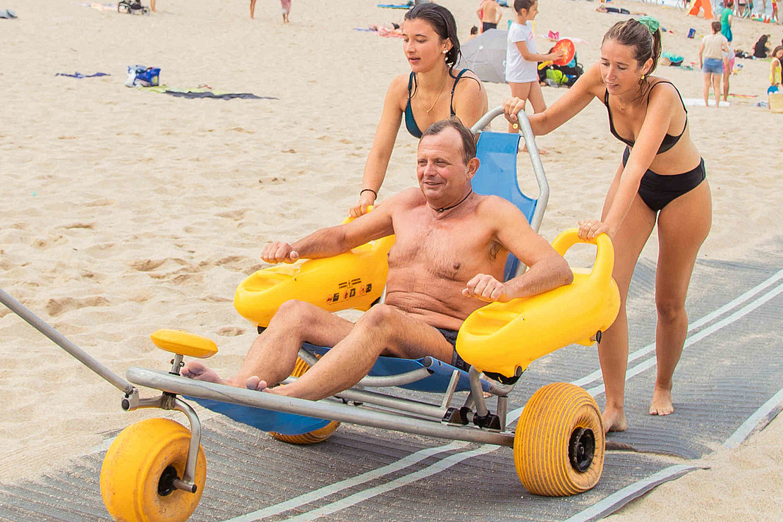
<path id="1" fill-rule="evenodd" d="M 101 362 L 164 368 L 148 333 L 162 327 L 215 338 L 212 363 L 236 367 L 252 327 L 231 299 L 262 265 L 271 239 L 295 239 L 340 221 L 359 191 L 385 89 L 408 70 L 401 41 L 354 31 L 402 11 L 370 0 L 296 0 L 283 26 L 276 2 L 157 2 L 153 16 L 100 11 L 71 0 L 14 0 L 0 20 L 0 286 Z M 460 37 L 478 2 L 444 1 Z M 536 20 L 585 41 L 589 66 L 621 16 L 597 3 L 545 0 Z M 698 60 L 709 23 L 677 9 L 630 3 L 659 16 L 664 48 Z M 503 23 L 510 16 L 503 9 Z M 738 47 L 780 27 L 736 20 Z M 777 36 L 776 36 L 777 35 Z M 543 38 L 539 49 L 547 47 Z M 763 95 L 768 63 L 741 60 L 731 92 Z M 161 67 L 164 83 L 278 99 L 189 100 L 123 86 L 125 67 Z M 74 79 L 58 72 L 108 77 Z M 660 67 L 688 98 L 702 75 Z M 487 85 L 499 105 L 507 85 Z M 565 89 L 545 88 L 548 103 Z M 763 99 L 763 98 L 758 98 Z M 701 257 L 731 259 L 779 232 L 779 132 L 783 117 L 731 99 L 689 108 L 691 135 L 713 191 L 713 231 Z M 775 126 L 777 124 L 777 126 Z M 500 123 L 502 127 L 503 124 Z M 553 239 L 596 217 L 622 153 L 595 101 L 565 128 L 539 139 L 551 197 L 541 232 Z M 416 142 L 401 131 L 381 197 L 413 184 Z M 655 257 L 655 240 L 645 257 Z M 113 391 L 5 308 L 0 309 L 0 477 L 35 477 L 88 452 L 128 415 Z M 621 517 L 772 518 L 781 512 L 781 420 L 734 451 L 705 459 L 712 470 L 657 488 Z"/>

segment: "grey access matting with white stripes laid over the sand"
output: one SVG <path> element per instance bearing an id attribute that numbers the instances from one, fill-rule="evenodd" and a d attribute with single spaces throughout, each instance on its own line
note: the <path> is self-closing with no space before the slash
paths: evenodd
<path id="1" fill-rule="evenodd" d="M 609 434 L 608 448 L 614 451 L 607 453 L 604 474 L 591 491 L 562 499 L 530 495 L 518 481 L 510 448 L 345 425 L 322 444 L 292 446 L 217 417 L 204 423 L 207 486 L 192 520 L 231 520 L 265 508 L 274 514 L 264 520 L 588 520 L 585 513 L 593 506 L 608 506 L 601 514 L 617 509 L 645 491 L 634 484 L 687 472 L 690 468 L 667 474 L 722 444 L 783 388 L 778 334 L 783 295 L 774 293 L 783 280 L 737 302 L 783 269 L 781 246 L 780 239 L 768 243 L 745 261 L 697 262 L 687 302 L 690 322 L 724 304 L 735 305 L 689 332 L 689 337 L 709 335 L 684 350 L 675 374 L 673 415 L 648 415 L 654 365 L 629 377 L 629 429 Z M 628 304 L 632 355 L 655 339 L 654 291 L 655 264 L 642 260 Z M 629 368 L 654 357 L 649 351 Z M 531 365 L 509 410 L 521 408 L 544 384 L 584 380 L 598 369 L 594 347 L 554 352 Z M 603 405 L 600 376 L 580 384 Z M 427 448 L 438 449 L 410 466 L 346 483 Z M 0 520 L 106 520 L 98 485 L 102 459 L 103 452 L 95 452 L 38 480 L 0 486 Z"/>

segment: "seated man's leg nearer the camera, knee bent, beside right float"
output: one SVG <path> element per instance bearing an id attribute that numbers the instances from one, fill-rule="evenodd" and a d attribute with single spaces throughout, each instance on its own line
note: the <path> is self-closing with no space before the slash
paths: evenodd
<path id="1" fill-rule="evenodd" d="M 437 329 L 396 308 L 377 304 L 299 380 L 269 391 L 318 400 L 359 382 L 379 355 L 402 358 L 430 355 L 450 362 L 452 354 L 452 345 Z"/>

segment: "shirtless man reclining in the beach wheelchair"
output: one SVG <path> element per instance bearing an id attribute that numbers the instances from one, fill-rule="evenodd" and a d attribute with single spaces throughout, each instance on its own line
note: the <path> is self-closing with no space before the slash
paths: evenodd
<path id="1" fill-rule="evenodd" d="M 359 382 L 379 355 L 430 355 L 467 369 L 454 351 L 456 330 L 467 315 L 486 301 L 542 293 L 573 277 L 517 207 L 472 191 L 479 163 L 475 153 L 473 135 L 458 119 L 435 122 L 419 142 L 419 188 L 406 189 L 348 224 L 262 250 L 264 261 L 292 263 L 300 257 L 334 256 L 395 234 L 385 304 L 376 304 L 353 323 L 314 304 L 287 301 L 236 375 L 222 380 L 197 361 L 189 362 L 182 375 L 317 400 Z M 501 283 L 509 251 L 529 269 Z M 294 383 L 268 388 L 290 375 L 303 342 L 333 348 Z"/>

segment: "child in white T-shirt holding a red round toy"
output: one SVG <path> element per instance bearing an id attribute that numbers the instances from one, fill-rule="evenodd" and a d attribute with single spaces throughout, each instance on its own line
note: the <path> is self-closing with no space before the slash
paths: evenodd
<path id="1" fill-rule="evenodd" d="M 540 113 L 547 108 L 547 103 L 543 101 L 539 85 L 538 63 L 559 59 L 565 51 L 536 53 L 532 20 L 538 14 L 538 0 L 514 0 L 514 12 L 517 14 L 507 37 L 506 81 L 512 96 L 523 101 L 530 100 L 533 112 Z M 511 124 L 508 131 L 515 131 Z"/>

